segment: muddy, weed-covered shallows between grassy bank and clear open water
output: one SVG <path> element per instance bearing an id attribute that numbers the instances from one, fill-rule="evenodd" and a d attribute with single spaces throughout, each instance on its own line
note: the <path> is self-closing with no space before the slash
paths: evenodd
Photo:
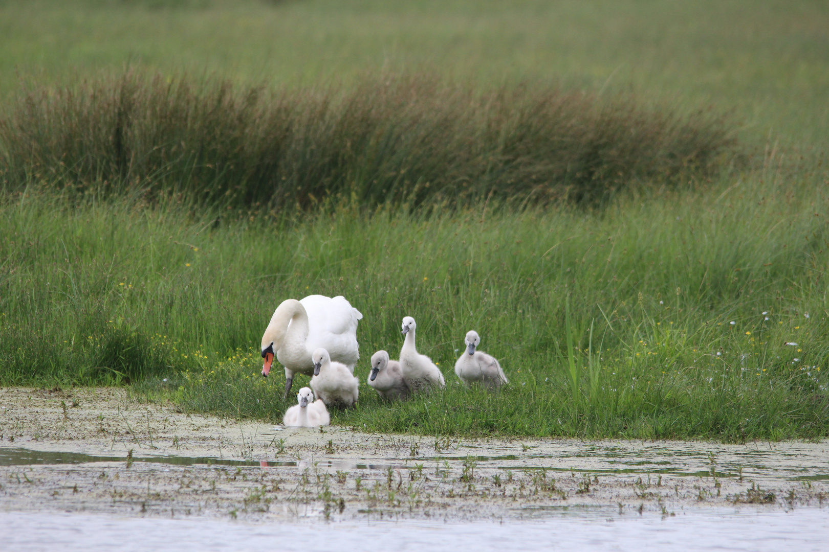
<path id="1" fill-rule="evenodd" d="M 521 519 L 829 501 L 829 444 L 435 439 L 188 415 L 118 388 L 0 389 L 0 511 Z"/>

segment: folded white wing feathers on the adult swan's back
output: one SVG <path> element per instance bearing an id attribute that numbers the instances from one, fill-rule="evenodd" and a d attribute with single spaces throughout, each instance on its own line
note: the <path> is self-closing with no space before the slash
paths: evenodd
<path id="1" fill-rule="evenodd" d="M 353 373 L 360 358 L 356 334 L 360 311 L 342 295 L 308 295 L 299 302 L 308 313 L 308 351 L 325 348 L 333 361 L 342 362 Z"/>

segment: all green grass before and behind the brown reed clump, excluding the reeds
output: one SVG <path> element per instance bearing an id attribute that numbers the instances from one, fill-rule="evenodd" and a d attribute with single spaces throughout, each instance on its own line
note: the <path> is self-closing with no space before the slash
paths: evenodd
<path id="1" fill-rule="evenodd" d="M 824 436 L 827 29 L 829 8 L 805 1 L 2 2 L 7 107 L 20 81 L 80 87 L 128 67 L 293 89 L 428 70 L 481 90 L 630 94 L 680 115 L 713 104 L 731 113 L 744 161 L 691 186 L 652 180 L 595 210 L 344 197 L 274 217 L 185 194 L 66 190 L 48 175 L 5 180 L 0 381 L 130 382 L 182 408 L 276 421 L 288 403 L 279 377 L 258 377 L 255 349 L 280 300 L 313 292 L 346 295 L 365 315 L 361 380 L 376 349 L 395 356 L 410 314 L 449 382 L 392 406 L 361 386 L 335 423 Z M 455 383 L 468 329 L 502 359 L 499 394 Z"/>

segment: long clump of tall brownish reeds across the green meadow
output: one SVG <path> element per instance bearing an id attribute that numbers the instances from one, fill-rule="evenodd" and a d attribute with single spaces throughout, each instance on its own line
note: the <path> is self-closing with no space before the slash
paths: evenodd
<path id="1" fill-rule="evenodd" d="M 267 89 L 130 70 L 18 94 L 0 118 L 0 180 L 276 212 L 343 199 L 595 203 L 632 184 L 687 184 L 734 146 L 710 111 L 542 85 L 477 91 L 413 74 Z"/>

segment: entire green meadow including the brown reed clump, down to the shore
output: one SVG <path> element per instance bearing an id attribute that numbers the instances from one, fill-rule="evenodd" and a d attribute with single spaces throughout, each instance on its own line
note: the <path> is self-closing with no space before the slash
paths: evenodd
<path id="1" fill-rule="evenodd" d="M 318 293 L 364 315 L 334 424 L 824 437 L 827 29 L 805 1 L 0 2 L 0 383 L 277 422 L 259 338 Z M 383 404 L 405 315 L 448 386 Z M 468 329 L 502 391 L 458 384 Z"/>

